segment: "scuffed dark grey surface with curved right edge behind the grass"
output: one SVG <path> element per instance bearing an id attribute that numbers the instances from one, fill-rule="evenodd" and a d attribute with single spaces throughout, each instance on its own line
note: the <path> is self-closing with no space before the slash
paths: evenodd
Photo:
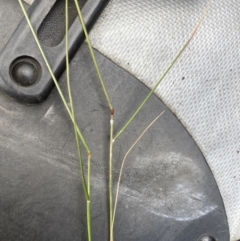
<path id="1" fill-rule="evenodd" d="M 17 11 L 17 3 L 12 6 L 5 11 Z M 96 54 L 119 130 L 149 90 Z M 91 63 L 83 45 L 71 62 L 71 77 L 77 120 L 93 150 L 94 240 L 107 240 L 108 108 Z M 66 93 L 64 76 L 60 84 Z M 207 163 L 156 96 L 116 142 L 115 180 L 125 152 L 162 110 L 165 114 L 127 160 L 116 240 L 191 241 L 207 234 L 229 240 L 224 206 Z M 40 105 L 23 105 L 0 93 L 0 116 L 0 240 L 86 240 L 74 133 L 56 89 Z"/>

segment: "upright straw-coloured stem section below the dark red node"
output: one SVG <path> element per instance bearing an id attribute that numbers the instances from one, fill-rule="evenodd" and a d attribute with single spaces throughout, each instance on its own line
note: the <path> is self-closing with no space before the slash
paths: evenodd
<path id="1" fill-rule="evenodd" d="M 111 113 L 110 119 L 110 147 L 109 147 L 109 227 L 110 227 L 110 241 L 114 240 L 113 229 L 113 130 L 114 130 L 114 112 Z"/>

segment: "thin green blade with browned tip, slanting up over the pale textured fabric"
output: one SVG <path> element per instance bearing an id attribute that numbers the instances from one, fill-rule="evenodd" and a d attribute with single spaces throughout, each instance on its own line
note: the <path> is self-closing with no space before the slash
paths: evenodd
<path id="1" fill-rule="evenodd" d="M 190 44 L 190 42 L 192 41 L 193 37 L 195 36 L 195 34 L 197 33 L 197 30 L 199 29 L 204 17 L 206 16 L 208 9 L 210 8 L 212 0 L 208 1 L 205 10 L 199 20 L 199 22 L 197 23 L 196 27 L 194 28 L 190 38 L 187 40 L 187 42 L 184 44 L 184 46 L 182 47 L 182 49 L 180 50 L 180 52 L 177 54 L 177 56 L 174 58 L 174 60 L 171 62 L 171 64 L 169 65 L 169 67 L 166 69 L 166 71 L 164 72 L 164 74 L 162 75 L 162 77 L 159 79 L 159 81 L 155 84 L 155 86 L 153 87 L 153 89 L 149 92 L 149 94 L 147 95 L 147 97 L 143 100 L 143 102 L 140 104 L 140 106 L 137 108 L 137 110 L 134 112 L 134 114 L 132 115 L 132 117 L 127 121 L 127 123 L 123 126 L 123 128 L 116 134 L 116 136 L 114 137 L 114 139 L 118 139 L 122 133 L 125 131 L 125 129 L 131 124 L 131 122 L 134 120 L 134 118 L 138 115 L 138 113 L 141 111 L 141 109 L 144 107 L 144 105 L 147 103 L 147 101 L 149 100 L 149 98 L 152 96 L 152 94 L 155 92 L 155 90 L 157 89 L 157 87 L 160 85 L 160 83 L 162 82 L 162 80 L 166 77 L 166 75 L 169 73 L 169 71 L 172 69 L 172 67 L 174 66 L 174 64 L 177 62 L 177 60 L 180 58 L 180 56 L 182 55 L 182 53 L 184 52 L 184 50 L 187 48 L 187 46 Z"/>

